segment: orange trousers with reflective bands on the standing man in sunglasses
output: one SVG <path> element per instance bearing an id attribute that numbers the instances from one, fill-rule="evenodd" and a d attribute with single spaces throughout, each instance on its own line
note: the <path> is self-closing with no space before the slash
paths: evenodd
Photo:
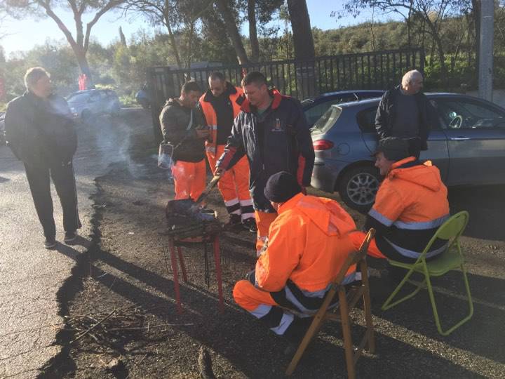
<path id="1" fill-rule="evenodd" d="M 212 169 L 215 168 L 217 159 L 224 152 L 224 145 L 217 145 L 216 154 L 207 152 L 207 159 Z M 249 162 L 247 157 L 241 158 L 235 166 L 225 171 L 217 182 L 224 205 L 228 213 L 242 215 L 242 220 L 254 216 L 253 201 L 249 192 Z"/>

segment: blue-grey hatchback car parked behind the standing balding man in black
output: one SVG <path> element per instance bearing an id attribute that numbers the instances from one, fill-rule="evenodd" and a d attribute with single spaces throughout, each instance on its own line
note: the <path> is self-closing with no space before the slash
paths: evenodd
<path id="1" fill-rule="evenodd" d="M 428 150 L 448 187 L 505 183 L 505 109 L 457 93 L 427 93 L 439 122 Z M 351 208 L 367 211 L 381 180 L 375 160 L 375 114 L 380 98 L 332 105 L 312 129 L 316 161 L 311 185 L 338 191 Z"/>

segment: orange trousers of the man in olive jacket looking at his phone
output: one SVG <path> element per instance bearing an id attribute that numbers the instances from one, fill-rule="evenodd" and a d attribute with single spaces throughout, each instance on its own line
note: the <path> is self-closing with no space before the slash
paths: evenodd
<path id="1" fill-rule="evenodd" d="M 172 167 L 175 182 L 175 200 L 196 200 L 205 189 L 206 163 L 205 159 L 199 162 L 177 161 Z"/>

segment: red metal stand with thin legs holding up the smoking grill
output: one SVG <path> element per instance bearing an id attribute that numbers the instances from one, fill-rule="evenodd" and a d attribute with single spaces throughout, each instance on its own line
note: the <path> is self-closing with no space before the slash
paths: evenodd
<path id="1" fill-rule="evenodd" d="M 187 240 L 187 239 L 186 239 Z M 222 295 L 222 272 L 221 272 L 221 254 L 220 254 L 220 243 L 219 243 L 219 233 L 204 234 L 201 240 L 197 241 L 184 241 L 177 237 L 168 237 L 168 248 L 170 250 L 170 263 L 172 266 L 172 272 L 174 277 L 174 289 L 175 289 L 175 299 L 177 300 L 177 313 L 182 313 L 182 303 L 180 300 L 180 288 L 179 288 L 179 274 L 177 270 L 177 255 L 179 256 L 179 262 L 182 271 L 182 279 L 187 282 L 186 266 L 184 265 L 184 258 L 182 258 L 182 246 L 189 246 L 193 244 L 203 244 L 205 250 L 205 260 L 206 260 L 206 284 L 209 285 L 209 274 L 208 274 L 208 260 L 207 260 L 207 244 L 213 244 L 215 271 L 217 277 L 217 291 L 219 293 L 220 301 L 220 312 L 224 312 L 224 300 Z M 177 255 L 175 252 L 177 251 Z"/>

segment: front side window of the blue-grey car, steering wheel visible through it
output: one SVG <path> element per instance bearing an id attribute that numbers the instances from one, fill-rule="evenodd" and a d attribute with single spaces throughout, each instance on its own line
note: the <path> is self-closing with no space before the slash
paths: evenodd
<path id="1" fill-rule="evenodd" d="M 438 113 L 450 129 L 505 128 L 505 112 L 469 99 L 437 99 Z"/>

